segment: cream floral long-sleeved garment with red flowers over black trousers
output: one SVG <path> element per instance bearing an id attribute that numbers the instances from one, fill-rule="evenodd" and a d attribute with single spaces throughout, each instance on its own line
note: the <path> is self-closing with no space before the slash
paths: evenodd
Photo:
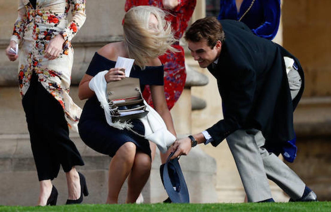
<path id="1" fill-rule="evenodd" d="M 70 8 L 72 19 L 68 22 Z M 85 0 L 37 0 L 36 9 L 29 0 L 20 0 L 18 13 L 11 40 L 21 49 L 18 72 L 21 97 L 28 90 L 35 72 L 43 87 L 63 107 L 68 126 L 78 131 L 81 109 L 69 96 L 73 63 L 71 39 L 85 21 Z M 65 39 L 63 52 L 58 58 L 48 60 L 44 57 L 45 49 L 58 34 Z"/>

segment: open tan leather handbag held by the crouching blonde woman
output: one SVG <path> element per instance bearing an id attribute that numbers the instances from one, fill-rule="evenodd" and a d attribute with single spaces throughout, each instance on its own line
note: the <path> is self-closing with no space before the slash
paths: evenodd
<path id="1" fill-rule="evenodd" d="M 113 122 L 139 119 L 147 115 L 139 78 L 126 77 L 107 83 L 107 100 Z"/>

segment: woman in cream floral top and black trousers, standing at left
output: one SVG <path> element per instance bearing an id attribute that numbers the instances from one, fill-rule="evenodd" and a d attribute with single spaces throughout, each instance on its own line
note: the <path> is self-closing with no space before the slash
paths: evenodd
<path id="1" fill-rule="evenodd" d="M 67 177 L 67 204 L 80 203 L 82 194 L 87 195 L 85 178 L 75 169 L 84 162 L 69 138 L 69 128 L 78 131 L 81 114 L 69 96 L 71 39 L 85 18 L 85 0 L 20 0 L 6 49 L 11 61 L 20 57 L 19 87 L 40 181 L 38 205 L 56 204 L 58 193 L 51 180 L 57 177 L 60 165 Z M 16 50 L 16 44 L 19 54 L 10 51 Z"/>

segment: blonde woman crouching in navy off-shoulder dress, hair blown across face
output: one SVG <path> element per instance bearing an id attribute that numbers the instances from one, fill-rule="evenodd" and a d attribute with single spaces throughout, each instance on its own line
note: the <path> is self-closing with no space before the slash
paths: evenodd
<path id="1" fill-rule="evenodd" d="M 104 110 L 100 107 L 89 82 L 100 71 L 107 83 L 125 77 L 120 68 L 114 68 L 118 56 L 135 59 L 130 77 L 140 79 L 141 88 L 150 85 L 155 110 L 175 135 L 170 112 L 166 105 L 163 87 L 163 66 L 158 59 L 174 41 L 171 28 L 161 9 L 151 6 L 131 8 L 124 17 L 124 41 L 110 43 L 95 53 L 86 74 L 79 84 L 79 98 L 88 100 L 78 124 L 82 140 L 97 152 L 109 155 L 107 203 L 118 203 L 118 193 L 128 178 L 126 203 L 134 203 L 145 186 L 151 170 L 151 149 L 148 140 L 124 129 L 107 124 Z M 131 120 L 133 130 L 144 134 L 139 120 Z"/>

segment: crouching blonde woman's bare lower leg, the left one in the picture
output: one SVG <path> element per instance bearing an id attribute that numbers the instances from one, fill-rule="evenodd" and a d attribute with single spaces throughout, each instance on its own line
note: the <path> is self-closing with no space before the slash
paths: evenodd
<path id="1" fill-rule="evenodd" d="M 135 156 L 136 145 L 132 142 L 126 142 L 117 150 L 115 156 L 112 158 L 109 164 L 108 197 L 106 203 L 118 203 L 118 194 L 134 165 Z"/>

